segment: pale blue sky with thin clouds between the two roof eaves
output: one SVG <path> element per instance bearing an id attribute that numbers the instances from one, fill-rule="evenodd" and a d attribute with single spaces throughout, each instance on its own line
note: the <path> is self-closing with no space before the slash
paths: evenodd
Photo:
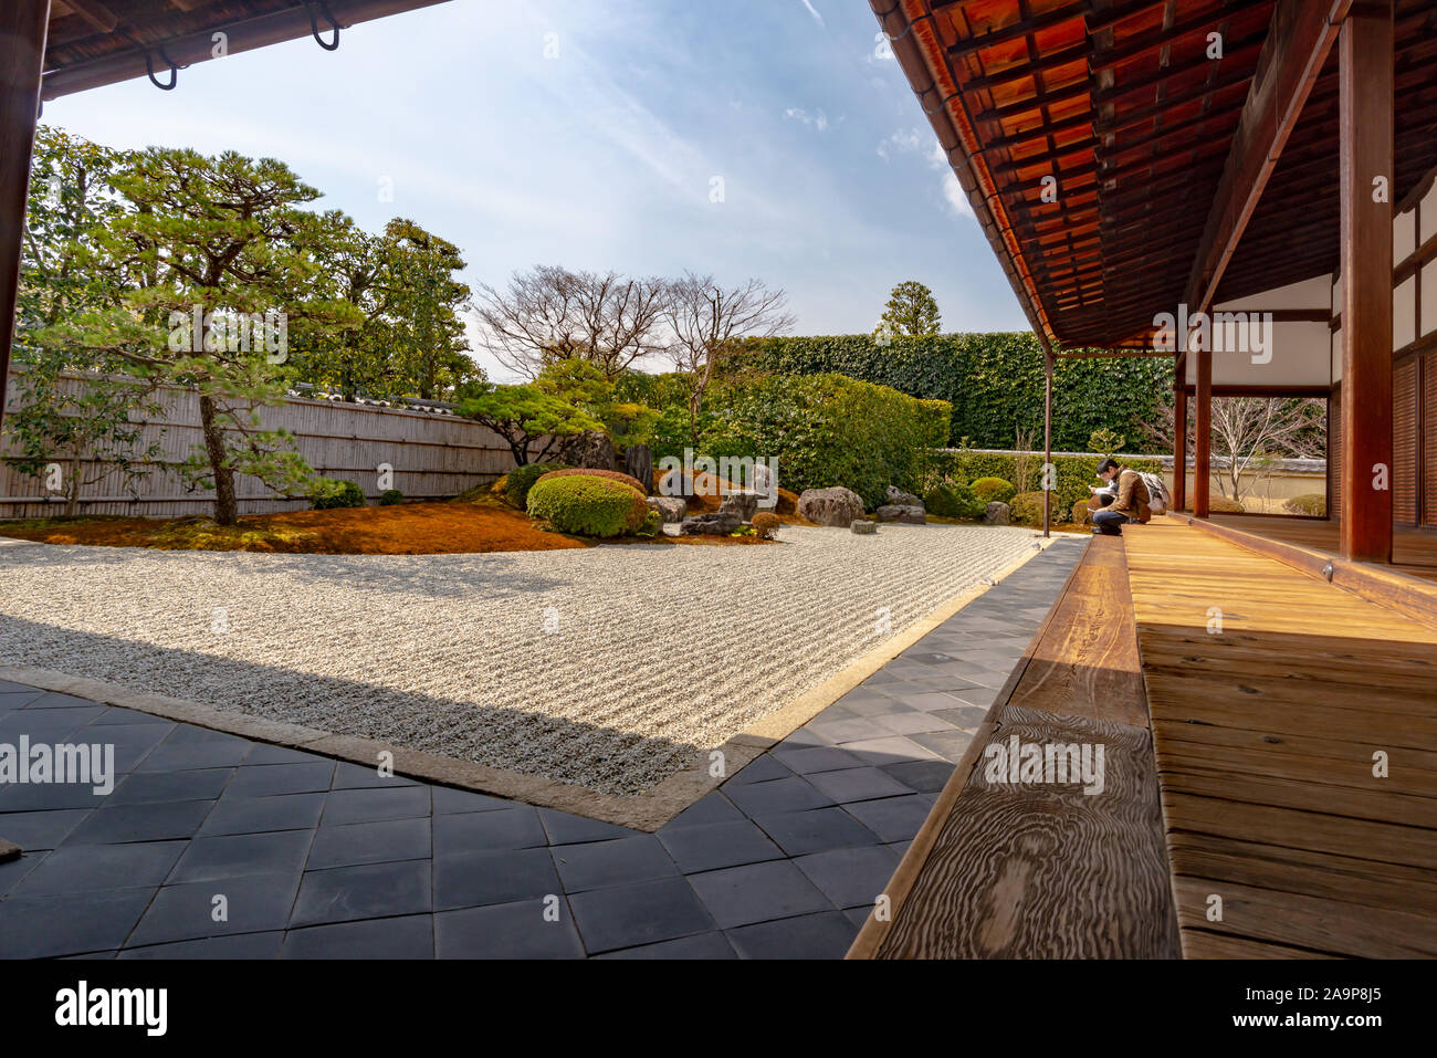
<path id="1" fill-rule="evenodd" d="M 280 158 L 319 207 L 457 243 L 473 286 L 537 263 L 759 276 L 798 334 L 852 334 L 918 279 L 947 331 L 1027 329 L 877 32 L 864 0 L 450 0 L 45 121 Z"/>

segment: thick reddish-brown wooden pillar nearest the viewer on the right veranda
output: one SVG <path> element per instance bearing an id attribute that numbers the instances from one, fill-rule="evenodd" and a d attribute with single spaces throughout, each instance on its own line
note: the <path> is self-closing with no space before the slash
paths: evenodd
<path id="1" fill-rule="evenodd" d="M 1392 559 L 1392 3 L 1355 3 L 1339 55 L 1342 558 Z"/>

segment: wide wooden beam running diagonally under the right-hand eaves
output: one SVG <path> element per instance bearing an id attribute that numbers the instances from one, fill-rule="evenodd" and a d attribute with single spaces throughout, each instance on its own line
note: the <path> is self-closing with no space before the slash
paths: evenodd
<path id="1" fill-rule="evenodd" d="M 1247 102 L 1188 276 L 1188 313 L 1207 312 L 1352 0 L 1277 0 Z"/>

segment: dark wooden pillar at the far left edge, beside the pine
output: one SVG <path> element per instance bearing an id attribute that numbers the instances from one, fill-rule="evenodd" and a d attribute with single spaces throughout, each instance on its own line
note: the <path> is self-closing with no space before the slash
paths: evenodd
<path id="1" fill-rule="evenodd" d="M 50 0 L 0 4 L 0 426 L 10 387 L 10 345 L 20 289 L 20 240 L 30 191 L 30 152 Z"/>

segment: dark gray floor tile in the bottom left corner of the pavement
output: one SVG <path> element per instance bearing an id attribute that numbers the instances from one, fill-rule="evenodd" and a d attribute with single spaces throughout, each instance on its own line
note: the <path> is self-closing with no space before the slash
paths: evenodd
<path id="1" fill-rule="evenodd" d="M 0 959 L 43 959 L 118 949 L 154 888 L 0 900 Z"/>

